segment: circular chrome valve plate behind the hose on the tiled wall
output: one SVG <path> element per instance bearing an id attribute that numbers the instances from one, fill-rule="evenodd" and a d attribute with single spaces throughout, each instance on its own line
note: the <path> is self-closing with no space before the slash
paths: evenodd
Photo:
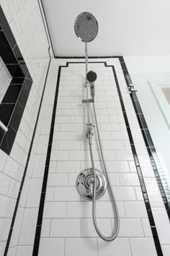
<path id="1" fill-rule="evenodd" d="M 99 200 L 107 189 L 107 182 L 104 174 L 102 171 L 95 169 L 96 171 L 96 181 L 97 181 L 97 188 L 96 188 L 96 199 Z M 86 168 L 80 172 L 79 176 L 76 179 L 76 189 L 79 192 L 81 197 L 84 197 L 86 200 L 92 201 L 93 195 L 91 195 L 91 183 L 94 182 L 93 177 L 93 169 Z M 93 192 L 92 192 L 93 194 Z"/>

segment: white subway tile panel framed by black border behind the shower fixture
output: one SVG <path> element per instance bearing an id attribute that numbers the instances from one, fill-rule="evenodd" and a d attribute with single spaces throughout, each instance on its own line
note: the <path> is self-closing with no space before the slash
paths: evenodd
<path id="1" fill-rule="evenodd" d="M 51 69 L 55 69 L 60 63 L 66 64 L 65 61 L 69 60 L 53 60 Z M 117 64 L 117 60 L 112 60 L 112 64 L 115 64 L 115 69 L 118 70 L 118 79 L 120 77 L 122 80 L 120 64 Z M 147 244 L 151 255 L 157 255 L 122 117 L 115 77 L 112 68 L 104 67 L 104 64 L 89 64 L 89 69 L 98 74 L 95 100 L 99 129 L 120 213 L 120 233 L 114 242 L 103 242 L 99 238 L 91 218 L 92 204 L 76 192 L 77 175 L 84 168 L 91 166 L 85 135 L 86 109 L 81 103 L 86 96 L 82 79 L 84 69 L 85 64 L 69 64 L 61 69 L 39 255 L 50 252 L 50 255 L 59 253 L 61 256 L 102 256 L 113 253 L 137 256 L 136 246 L 141 246 L 140 253 L 147 255 L 142 244 L 144 247 Z M 121 91 L 124 91 L 127 98 L 125 86 L 124 80 L 120 82 Z M 128 108 L 130 107 L 133 109 L 128 102 Z M 93 148 L 96 167 L 102 170 L 95 128 Z M 153 177 L 152 172 L 148 177 Z M 97 223 L 106 236 L 112 234 L 115 228 L 114 214 L 107 193 L 97 202 Z"/>

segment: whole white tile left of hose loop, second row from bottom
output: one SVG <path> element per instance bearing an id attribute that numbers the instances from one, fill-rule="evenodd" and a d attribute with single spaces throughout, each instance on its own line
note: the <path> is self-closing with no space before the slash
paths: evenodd
<path id="1" fill-rule="evenodd" d="M 81 219 L 52 219 L 50 237 L 80 237 Z"/>

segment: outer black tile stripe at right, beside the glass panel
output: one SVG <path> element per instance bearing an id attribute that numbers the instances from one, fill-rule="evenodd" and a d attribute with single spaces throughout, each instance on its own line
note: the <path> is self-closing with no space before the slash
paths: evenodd
<path id="1" fill-rule="evenodd" d="M 133 82 L 130 78 L 130 74 L 128 72 L 128 69 L 126 67 L 126 64 L 125 64 L 125 61 L 124 61 L 123 57 L 121 56 L 119 59 L 120 59 L 120 65 L 122 67 L 122 72 L 124 74 L 127 87 L 129 87 L 129 85 L 133 84 Z M 143 140 L 145 141 L 146 148 L 148 150 L 148 155 L 149 155 L 149 158 L 150 158 L 150 161 L 151 161 L 151 166 L 152 166 L 154 174 L 156 176 L 156 182 L 157 182 L 158 188 L 161 192 L 161 197 L 163 199 L 163 202 L 164 202 L 164 205 L 165 205 L 165 208 L 166 208 L 166 213 L 167 213 L 167 215 L 169 217 L 169 221 L 170 221 L 169 202 L 167 200 L 166 193 L 165 193 L 165 190 L 164 190 L 164 186 L 161 182 L 161 177 L 158 173 L 158 168 L 156 166 L 156 162 L 155 162 L 154 157 L 153 157 L 153 155 L 154 155 L 156 158 L 158 158 L 158 155 L 156 153 L 156 148 L 153 144 L 153 140 L 151 138 L 151 134 L 150 134 L 148 126 L 146 124 L 146 119 L 143 115 L 143 111 L 140 107 L 140 103 L 138 101 L 137 94 L 135 92 L 130 93 L 130 98 L 131 98 L 131 101 L 133 103 L 133 107 L 135 109 L 135 114 L 138 118 L 138 123 L 140 125 L 140 130 L 141 130 L 142 135 L 143 135 Z"/>

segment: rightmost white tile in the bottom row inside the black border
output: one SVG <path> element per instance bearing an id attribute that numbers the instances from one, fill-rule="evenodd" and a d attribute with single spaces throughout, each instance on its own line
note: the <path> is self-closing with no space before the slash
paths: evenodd
<path id="1" fill-rule="evenodd" d="M 152 238 L 130 238 L 130 245 L 133 256 L 157 256 Z"/>

